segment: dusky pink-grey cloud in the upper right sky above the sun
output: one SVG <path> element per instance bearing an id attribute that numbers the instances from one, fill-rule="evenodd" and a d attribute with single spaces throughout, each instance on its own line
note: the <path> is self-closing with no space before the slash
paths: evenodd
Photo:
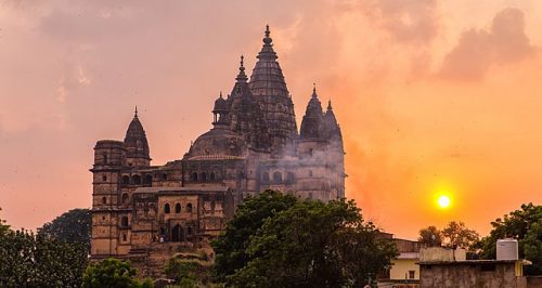
<path id="1" fill-rule="evenodd" d="M 489 29 L 469 29 L 443 60 L 438 75 L 446 79 L 473 81 L 493 65 L 519 62 L 534 55 L 525 32 L 525 15 L 518 9 L 499 12 Z"/>

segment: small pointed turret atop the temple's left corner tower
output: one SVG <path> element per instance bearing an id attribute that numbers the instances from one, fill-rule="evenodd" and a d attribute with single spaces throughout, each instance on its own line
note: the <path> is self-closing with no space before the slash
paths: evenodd
<path id="1" fill-rule="evenodd" d="M 139 121 L 138 107 L 125 136 L 126 162 L 133 167 L 145 167 L 151 165 L 149 142 L 145 130 Z"/>

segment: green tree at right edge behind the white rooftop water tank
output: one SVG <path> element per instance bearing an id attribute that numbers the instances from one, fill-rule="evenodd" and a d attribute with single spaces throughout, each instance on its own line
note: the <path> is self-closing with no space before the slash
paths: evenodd
<path id="1" fill-rule="evenodd" d="M 496 240 L 514 238 L 518 240 L 519 257 L 530 260 L 532 265 L 526 266 L 526 274 L 542 274 L 542 206 L 521 205 L 515 210 L 491 222 L 493 230 L 480 241 L 480 257 L 495 259 Z"/>

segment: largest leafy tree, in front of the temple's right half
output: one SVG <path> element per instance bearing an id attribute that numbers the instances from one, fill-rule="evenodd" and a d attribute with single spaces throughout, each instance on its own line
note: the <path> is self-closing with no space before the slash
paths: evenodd
<path id="1" fill-rule="evenodd" d="M 235 287 L 363 287 L 397 257 L 392 241 L 364 222 L 353 201 L 302 200 L 250 237 Z"/>

